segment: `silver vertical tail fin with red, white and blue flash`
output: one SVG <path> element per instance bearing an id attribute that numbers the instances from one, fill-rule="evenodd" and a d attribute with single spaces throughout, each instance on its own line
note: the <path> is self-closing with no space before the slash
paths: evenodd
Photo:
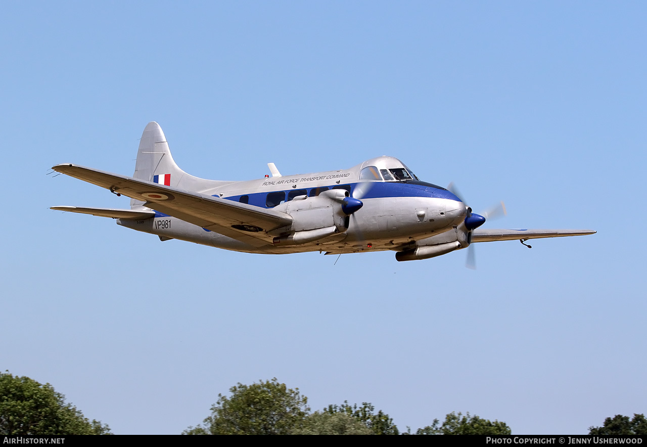
<path id="1" fill-rule="evenodd" d="M 142 133 L 135 162 L 135 179 L 148 180 L 149 182 L 183 188 L 190 191 L 208 191 L 223 184 L 219 180 L 204 180 L 193 177 L 182 171 L 171 156 L 171 150 L 166 142 L 162 127 L 156 122 L 149 122 Z M 131 208 L 138 208 L 144 204 L 142 201 L 131 199 Z"/>

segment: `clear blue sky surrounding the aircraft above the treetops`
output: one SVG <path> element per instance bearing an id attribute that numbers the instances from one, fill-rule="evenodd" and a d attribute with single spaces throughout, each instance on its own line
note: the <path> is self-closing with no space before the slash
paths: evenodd
<path id="1" fill-rule="evenodd" d="M 115 433 L 180 433 L 236 382 L 313 409 L 373 402 L 404 429 L 450 411 L 513 433 L 645 413 L 647 5 L 10 2 L 0 369 Z M 397 263 L 226 252 L 49 206 L 127 208 L 63 175 L 131 175 L 149 121 L 210 179 L 379 155 L 454 181 L 485 228 L 592 228 Z"/>

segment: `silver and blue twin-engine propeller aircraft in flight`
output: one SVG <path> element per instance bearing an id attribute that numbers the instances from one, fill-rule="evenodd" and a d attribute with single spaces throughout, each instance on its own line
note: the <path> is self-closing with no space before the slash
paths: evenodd
<path id="1" fill-rule="evenodd" d="M 230 182 L 178 168 L 162 129 L 144 129 L 133 177 L 58 164 L 52 169 L 131 198 L 129 210 L 53 206 L 117 219 L 160 240 L 238 252 L 342 254 L 392 250 L 398 261 L 440 256 L 475 242 L 593 234 L 593 230 L 481 230 L 485 217 L 400 160 L 378 157 L 350 169 Z"/>

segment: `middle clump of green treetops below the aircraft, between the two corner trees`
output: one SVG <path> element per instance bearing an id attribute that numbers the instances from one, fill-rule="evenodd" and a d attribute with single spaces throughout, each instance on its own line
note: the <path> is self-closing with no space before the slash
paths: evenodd
<path id="1" fill-rule="evenodd" d="M 311 411 L 308 398 L 273 378 L 252 385 L 237 384 L 229 397 L 219 394 L 211 415 L 184 435 L 509 435 L 505 422 L 481 419 L 466 413 L 450 413 L 444 422 L 399 430 L 384 411 L 368 402 L 344 402 Z"/>

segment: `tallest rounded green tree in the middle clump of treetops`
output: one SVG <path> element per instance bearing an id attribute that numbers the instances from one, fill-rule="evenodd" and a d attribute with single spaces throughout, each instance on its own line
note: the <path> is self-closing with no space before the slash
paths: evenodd
<path id="1" fill-rule="evenodd" d="M 241 383 L 218 395 L 212 414 L 203 425 L 189 427 L 184 435 L 288 435 L 300 428 L 309 413 L 308 398 L 289 389 L 276 377 L 258 384 Z"/>

